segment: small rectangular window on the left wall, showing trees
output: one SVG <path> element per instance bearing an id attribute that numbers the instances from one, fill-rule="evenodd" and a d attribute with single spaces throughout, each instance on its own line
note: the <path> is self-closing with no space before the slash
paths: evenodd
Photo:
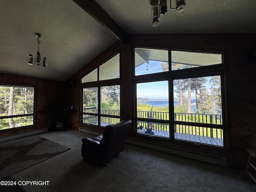
<path id="1" fill-rule="evenodd" d="M 0 130 L 34 124 L 34 87 L 0 85 Z"/>

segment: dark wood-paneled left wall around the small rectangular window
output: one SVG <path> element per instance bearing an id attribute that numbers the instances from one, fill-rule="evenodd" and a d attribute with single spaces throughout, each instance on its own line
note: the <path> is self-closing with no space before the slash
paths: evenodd
<path id="1" fill-rule="evenodd" d="M 38 113 L 38 111 L 48 110 L 57 102 L 65 102 L 64 82 L 0 73 L 0 83 L 36 87 L 36 124 L 34 126 L 0 130 L 0 136 L 7 136 L 42 128 L 48 128 L 48 130 L 54 128 L 54 118 L 52 118 L 48 113 Z"/>

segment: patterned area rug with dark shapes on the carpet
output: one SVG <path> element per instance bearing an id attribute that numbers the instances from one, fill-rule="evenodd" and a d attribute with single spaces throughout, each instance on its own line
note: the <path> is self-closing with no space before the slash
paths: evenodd
<path id="1" fill-rule="evenodd" d="M 43 137 L 0 146 L 0 178 L 20 172 L 70 148 Z"/>

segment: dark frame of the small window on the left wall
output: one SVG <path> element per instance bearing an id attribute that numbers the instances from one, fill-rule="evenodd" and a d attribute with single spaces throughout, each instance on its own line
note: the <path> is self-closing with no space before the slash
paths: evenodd
<path id="1" fill-rule="evenodd" d="M 33 116 L 33 124 L 32 125 L 25 125 L 25 126 L 19 126 L 19 127 L 10 127 L 6 129 L 2 129 L 0 131 L 5 130 L 13 130 L 13 129 L 20 129 L 20 128 L 26 128 L 30 126 L 36 125 L 36 94 L 37 94 L 37 86 L 33 85 L 23 85 L 23 84 L 4 84 L 0 83 L 0 86 L 6 86 L 6 87 L 19 87 L 19 88 L 34 88 L 34 95 L 33 95 L 33 113 L 30 114 L 19 114 L 19 115 L 11 115 L 11 116 L 0 116 L 0 119 L 8 119 L 8 118 L 17 118 L 17 117 L 27 117 L 27 116 Z"/>

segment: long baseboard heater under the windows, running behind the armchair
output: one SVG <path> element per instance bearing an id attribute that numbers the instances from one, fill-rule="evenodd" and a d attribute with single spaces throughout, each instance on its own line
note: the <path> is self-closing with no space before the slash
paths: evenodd
<path id="1" fill-rule="evenodd" d="M 79 131 L 86 132 L 86 133 L 93 134 L 93 135 L 102 134 L 102 132 L 97 132 L 97 131 L 89 130 L 86 128 L 79 128 Z M 174 147 L 170 147 L 170 146 L 164 146 L 164 145 L 155 144 L 152 142 L 145 142 L 145 141 L 141 141 L 141 140 L 137 140 L 137 139 L 133 139 L 133 138 L 126 138 L 126 143 L 153 149 L 153 150 L 158 150 L 161 152 L 165 152 L 165 153 L 169 153 L 169 154 L 173 154 L 173 155 L 177 155 L 177 156 L 182 156 L 185 158 L 190 158 L 190 159 L 194 159 L 194 160 L 198 160 L 198 161 L 202 161 L 202 162 L 207 162 L 207 163 L 219 165 L 222 167 L 228 167 L 227 159 L 225 157 L 214 156 L 214 155 L 194 152 L 194 151 L 190 151 L 190 150 L 174 148 Z"/>

